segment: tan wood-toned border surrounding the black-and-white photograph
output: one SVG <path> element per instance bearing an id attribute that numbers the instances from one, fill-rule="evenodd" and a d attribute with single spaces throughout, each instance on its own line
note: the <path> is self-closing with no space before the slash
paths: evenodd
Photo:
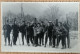
<path id="1" fill-rule="evenodd" d="M 0 27 L 2 27 L 2 19 L 1 19 L 1 2 L 80 2 L 75 0 L 1 0 L 0 1 Z M 80 41 L 80 3 L 79 3 L 79 14 L 78 14 L 78 37 Z M 0 28 L 1 34 L 1 28 Z M 80 45 L 80 43 L 79 43 Z M 1 52 L 1 35 L 0 35 L 0 54 L 77 54 L 77 53 L 43 53 L 43 52 Z"/>

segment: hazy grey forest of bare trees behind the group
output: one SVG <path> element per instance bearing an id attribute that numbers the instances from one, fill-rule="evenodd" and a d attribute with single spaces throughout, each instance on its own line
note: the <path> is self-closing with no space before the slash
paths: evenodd
<path id="1" fill-rule="evenodd" d="M 14 14 L 11 11 L 8 11 L 5 15 L 2 14 L 3 25 L 6 23 L 6 20 L 10 20 L 9 23 L 13 24 L 15 18 L 18 25 L 22 25 L 22 21 L 25 21 L 26 24 L 29 21 L 32 22 L 34 18 L 37 18 L 38 22 L 43 21 L 45 24 L 48 21 L 55 22 L 55 20 L 58 19 L 62 23 L 68 21 L 70 24 L 70 30 L 78 30 L 78 12 L 76 11 L 64 14 L 58 6 L 49 6 L 49 8 L 47 8 L 39 17 L 31 14 L 25 15 L 23 7 L 21 7 L 21 13 L 19 14 Z"/>

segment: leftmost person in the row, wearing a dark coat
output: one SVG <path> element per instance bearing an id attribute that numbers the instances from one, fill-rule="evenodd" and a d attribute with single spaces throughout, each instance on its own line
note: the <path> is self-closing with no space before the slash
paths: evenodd
<path id="1" fill-rule="evenodd" d="M 10 33 L 12 27 L 9 25 L 9 21 L 7 20 L 7 23 L 3 26 L 4 29 L 4 37 L 5 37 L 5 45 L 8 38 L 8 45 L 10 45 Z"/>

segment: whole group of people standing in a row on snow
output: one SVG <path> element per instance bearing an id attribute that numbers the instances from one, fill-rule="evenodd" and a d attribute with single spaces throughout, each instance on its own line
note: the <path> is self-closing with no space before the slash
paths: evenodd
<path id="1" fill-rule="evenodd" d="M 9 20 L 7 20 L 6 24 L 3 26 L 5 45 L 7 38 L 8 45 L 12 45 L 12 43 L 16 45 L 20 32 L 22 34 L 22 45 L 24 45 L 25 37 L 28 46 L 30 46 L 31 43 L 35 47 L 42 45 L 46 47 L 49 38 L 49 46 L 58 47 L 61 41 L 62 49 L 67 46 L 68 48 L 70 47 L 69 25 L 67 23 L 58 22 L 58 19 L 56 19 L 55 23 L 48 21 L 47 25 L 45 25 L 43 21 L 37 22 L 36 18 L 33 23 L 25 23 L 25 21 L 22 23 L 22 25 L 17 25 L 16 20 L 14 20 L 14 24 L 11 26 Z M 11 32 L 13 34 L 12 40 L 10 40 Z"/>

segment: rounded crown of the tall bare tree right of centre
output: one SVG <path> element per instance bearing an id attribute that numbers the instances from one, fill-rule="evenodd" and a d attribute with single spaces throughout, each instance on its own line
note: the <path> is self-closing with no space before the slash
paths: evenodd
<path id="1" fill-rule="evenodd" d="M 44 18 L 51 21 L 59 19 L 61 16 L 61 10 L 58 6 L 55 5 L 49 6 L 49 8 L 47 8 L 47 10 L 44 11 Z"/>

